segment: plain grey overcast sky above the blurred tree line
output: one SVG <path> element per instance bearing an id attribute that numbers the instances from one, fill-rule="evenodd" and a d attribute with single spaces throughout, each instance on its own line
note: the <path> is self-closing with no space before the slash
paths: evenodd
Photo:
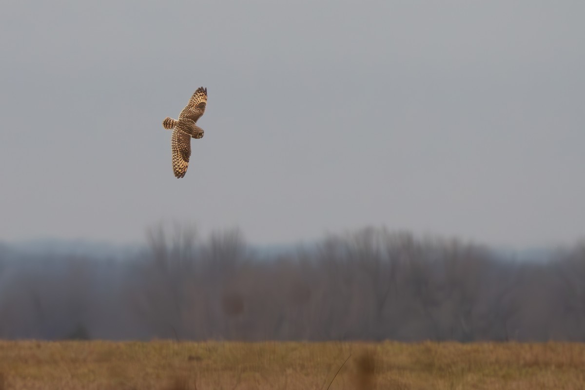
<path id="1" fill-rule="evenodd" d="M 585 236 L 583 1 L 0 6 L 0 240 Z M 170 136 L 208 88 L 185 178 Z"/>

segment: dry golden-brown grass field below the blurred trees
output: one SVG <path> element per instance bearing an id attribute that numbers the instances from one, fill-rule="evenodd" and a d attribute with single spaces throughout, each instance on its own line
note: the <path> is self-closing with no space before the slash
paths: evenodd
<path id="1" fill-rule="evenodd" d="M 0 390 L 326 389 L 332 380 L 332 390 L 585 389 L 585 344 L 0 341 Z"/>

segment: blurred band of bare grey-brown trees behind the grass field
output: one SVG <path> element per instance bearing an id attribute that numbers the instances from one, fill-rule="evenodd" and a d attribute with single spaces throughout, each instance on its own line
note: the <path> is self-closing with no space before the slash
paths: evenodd
<path id="1" fill-rule="evenodd" d="M 585 244 L 517 261 L 367 228 L 280 253 L 154 229 L 123 259 L 0 247 L 0 338 L 585 341 Z"/>

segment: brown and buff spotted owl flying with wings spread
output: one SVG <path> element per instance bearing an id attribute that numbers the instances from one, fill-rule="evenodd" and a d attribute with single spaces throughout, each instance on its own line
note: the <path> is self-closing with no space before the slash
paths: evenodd
<path id="1" fill-rule="evenodd" d="M 163 127 L 173 130 L 171 151 L 173 151 L 173 172 L 177 178 L 185 176 L 191 157 L 191 137 L 203 138 L 203 129 L 195 125 L 207 105 L 207 88 L 199 87 L 191 96 L 187 106 L 179 114 L 179 119 L 164 118 Z"/>

